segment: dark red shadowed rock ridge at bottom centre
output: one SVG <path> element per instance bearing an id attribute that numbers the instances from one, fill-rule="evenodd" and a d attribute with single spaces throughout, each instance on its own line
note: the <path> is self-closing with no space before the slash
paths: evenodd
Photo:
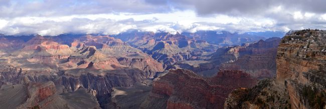
<path id="1" fill-rule="evenodd" d="M 250 75 L 236 70 L 221 71 L 212 78 L 197 76 L 189 70 L 170 70 L 153 82 L 147 101 L 168 97 L 161 108 L 217 109 L 222 108 L 225 98 L 234 89 L 249 88 L 256 83 Z M 148 107 L 143 103 L 143 107 Z"/>

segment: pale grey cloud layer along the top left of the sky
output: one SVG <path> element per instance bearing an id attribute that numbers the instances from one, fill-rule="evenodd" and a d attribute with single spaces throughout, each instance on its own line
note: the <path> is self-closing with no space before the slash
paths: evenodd
<path id="1" fill-rule="evenodd" d="M 114 12 L 167 12 L 166 1 L 154 0 L 5 0 L 0 1 L 0 17 L 61 16 Z"/>

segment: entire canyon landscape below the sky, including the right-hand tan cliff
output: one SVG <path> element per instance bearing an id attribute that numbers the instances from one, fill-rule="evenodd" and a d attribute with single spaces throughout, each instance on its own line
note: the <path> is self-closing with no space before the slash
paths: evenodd
<path id="1" fill-rule="evenodd" d="M 18 109 L 310 109 L 324 104 L 311 106 L 324 100 L 316 99 L 324 96 L 322 31 L 265 40 L 224 34 L 232 43 L 213 43 L 205 32 L 3 37 L 0 96 L 8 99 L 0 103 Z M 80 105 L 85 103 L 89 106 Z"/>

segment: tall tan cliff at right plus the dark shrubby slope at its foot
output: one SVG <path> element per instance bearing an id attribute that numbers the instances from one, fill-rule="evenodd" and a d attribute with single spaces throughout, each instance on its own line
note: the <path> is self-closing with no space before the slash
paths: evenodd
<path id="1" fill-rule="evenodd" d="M 275 107 L 275 102 L 282 101 L 286 101 L 287 105 L 278 105 L 280 108 L 326 108 L 325 42 L 326 32 L 322 30 L 306 29 L 288 33 L 278 46 L 277 75 L 276 79 L 271 81 L 274 85 L 263 86 L 270 97 L 275 97 L 270 95 L 273 92 L 282 94 L 280 99 L 269 101 L 262 96 L 262 92 L 253 93 L 257 96 L 248 99 L 247 96 L 243 96 L 248 93 L 240 91 L 230 95 L 231 101 L 226 102 L 226 108 L 272 108 Z M 256 89 L 249 89 L 252 90 Z M 260 102 L 254 102 L 258 98 Z"/>

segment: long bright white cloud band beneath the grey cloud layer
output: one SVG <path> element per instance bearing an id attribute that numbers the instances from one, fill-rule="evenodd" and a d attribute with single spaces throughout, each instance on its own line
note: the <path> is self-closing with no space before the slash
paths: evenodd
<path id="1" fill-rule="evenodd" d="M 8 35 L 63 33 L 118 34 L 129 29 L 141 31 L 196 32 L 199 30 L 263 31 L 261 27 L 274 22 L 264 18 L 244 18 L 228 15 L 197 16 L 194 11 L 153 14 L 86 14 L 52 17 L 16 17 L 5 22 L 0 32 Z M 0 22 L 0 23 L 2 23 Z"/>

